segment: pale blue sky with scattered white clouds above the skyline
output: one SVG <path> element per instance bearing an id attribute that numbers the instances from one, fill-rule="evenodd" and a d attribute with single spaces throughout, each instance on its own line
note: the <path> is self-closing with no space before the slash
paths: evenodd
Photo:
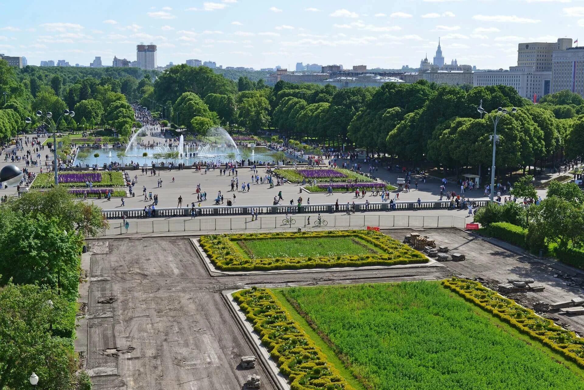
<path id="1" fill-rule="evenodd" d="M 135 45 L 152 42 L 158 66 L 415 68 L 426 53 L 432 61 L 440 37 L 447 63 L 498 69 L 517 65 L 520 42 L 584 39 L 584 0 L 0 2 L 0 53 L 29 65 L 134 61 Z"/>

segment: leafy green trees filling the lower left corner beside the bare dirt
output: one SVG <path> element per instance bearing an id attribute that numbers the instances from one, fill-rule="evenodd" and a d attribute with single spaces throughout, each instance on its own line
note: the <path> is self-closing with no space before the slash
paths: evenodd
<path id="1" fill-rule="evenodd" d="M 86 235 L 107 224 L 64 187 L 0 206 L 0 389 L 89 390 L 74 349 Z"/>

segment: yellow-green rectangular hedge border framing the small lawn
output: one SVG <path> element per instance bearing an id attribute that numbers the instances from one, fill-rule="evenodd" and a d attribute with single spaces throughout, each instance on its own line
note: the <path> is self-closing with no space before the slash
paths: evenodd
<path id="1" fill-rule="evenodd" d="M 362 240 L 366 245 L 373 246 L 381 253 L 305 257 L 279 255 L 252 259 L 245 255 L 244 250 L 239 249 L 241 245 L 238 244 L 238 242 L 242 242 L 245 245 L 245 242 L 249 240 L 272 240 L 274 248 L 277 248 L 277 239 L 334 237 Z M 367 230 L 206 235 L 201 236 L 200 245 L 215 267 L 225 271 L 395 266 L 398 264 L 427 263 L 428 261 L 422 253 L 392 239 L 390 236 Z"/>

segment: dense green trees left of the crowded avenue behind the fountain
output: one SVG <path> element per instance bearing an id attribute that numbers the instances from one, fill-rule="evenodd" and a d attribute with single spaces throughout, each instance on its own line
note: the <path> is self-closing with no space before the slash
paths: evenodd
<path id="1" fill-rule="evenodd" d="M 26 117 L 36 118 L 37 110 L 51 112 L 58 119 L 65 110 L 61 131 L 77 128 L 109 127 L 124 136 L 131 132 L 134 112 L 128 100 L 141 96 L 140 89 L 151 84 L 151 72 L 136 68 L 9 67 L 0 61 L 0 138 L 15 137 L 27 126 Z M 6 97 L 6 103 L 4 101 Z"/>

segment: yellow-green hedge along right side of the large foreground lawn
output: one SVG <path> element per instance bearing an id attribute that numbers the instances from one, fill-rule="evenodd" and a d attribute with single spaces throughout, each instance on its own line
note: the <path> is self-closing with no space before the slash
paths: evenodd
<path id="1" fill-rule="evenodd" d="M 533 310 L 502 297 L 476 281 L 451 278 L 444 280 L 442 284 L 465 300 L 491 312 L 520 332 L 584 367 L 584 339 L 576 336 L 576 333 L 562 329 L 550 319 L 536 315 Z"/>

